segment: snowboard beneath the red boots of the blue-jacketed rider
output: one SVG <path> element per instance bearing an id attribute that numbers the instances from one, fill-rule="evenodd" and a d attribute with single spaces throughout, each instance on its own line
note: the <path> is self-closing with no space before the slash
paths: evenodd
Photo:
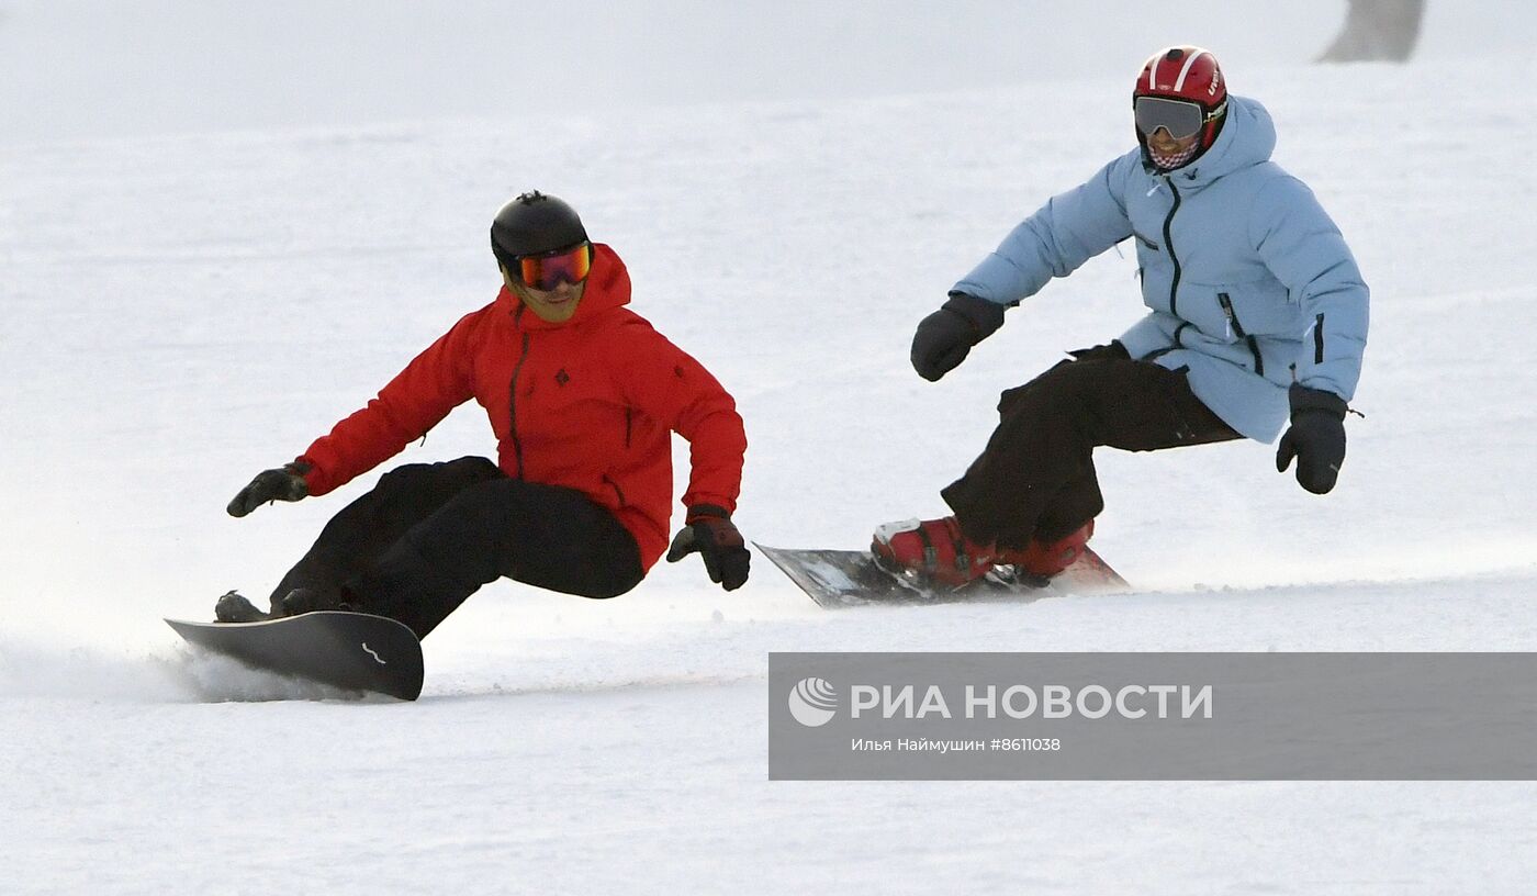
<path id="1" fill-rule="evenodd" d="M 753 544 L 802 592 L 828 609 L 871 604 L 1036 601 L 1051 595 L 1111 593 L 1131 587 L 1088 547 L 1073 566 L 1051 579 L 1034 579 L 1016 575 L 1013 567 L 999 567 L 965 586 L 948 587 L 888 572 L 875 562 L 868 550 L 796 550 Z"/>

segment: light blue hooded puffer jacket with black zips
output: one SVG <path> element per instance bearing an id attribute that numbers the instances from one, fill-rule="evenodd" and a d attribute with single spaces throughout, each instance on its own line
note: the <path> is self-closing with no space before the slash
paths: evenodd
<path id="1" fill-rule="evenodd" d="M 1313 191 L 1270 161 L 1276 126 L 1256 100 L 1194 163 L 1150 174 L 1136 149 L 1053 197 L 956 283 L 1001 304 L 1136 237 L 1142 301 L 1120 341 L 1133 358 L 1188 367 L 1190 386 L 1237 432 L 1271 441 L 1300 383 L 1349 401 L 1366 347 L 1366 283 Z"/>

